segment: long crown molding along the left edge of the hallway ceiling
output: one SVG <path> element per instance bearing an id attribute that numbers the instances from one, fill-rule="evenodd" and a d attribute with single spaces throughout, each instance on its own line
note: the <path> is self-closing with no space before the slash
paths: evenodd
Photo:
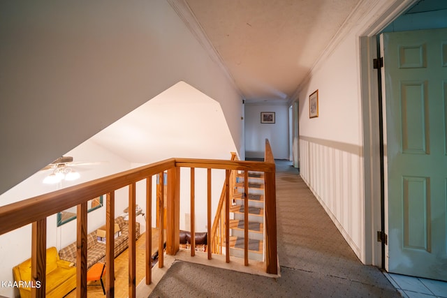
<path id="1" fill-rule="evenodd" d="M 172 6 L 172 8 L 174 9 L 175 13 L 177 13 L 177 15 L 189 29 L 189 31 L 191 31 L 196 40 L 198 40 L 198 43 L 202 45 L 203 49 L 205 50 L 205 52 L 207 52 L 212 61 L 214 61 L 217 64 L 217 66 L 221 68 L 224 75 L 228 78 L 228 80 L 233 85 L 237 93 L 241 96 L 241 98 L 244 99 L 244 95 L 242 94 L 240 87 L 237 86 L 233 75 L 231 75 L 228 68 L 226 68 L 225 64 L 223 63 L 222 57 L 220 56 L 219 52 L 217 52 L 214 45 L 212 45 L 210 39 L 205 33 L 205 30 L 203 30 L 203 27 L 200 26 L 200 23 L 198 22 L 196 16 L 189 7 L 188 3 L 186 3 L 185 0 L 166 0 L 166 1 L 168 1 L 170 6 Z"/>

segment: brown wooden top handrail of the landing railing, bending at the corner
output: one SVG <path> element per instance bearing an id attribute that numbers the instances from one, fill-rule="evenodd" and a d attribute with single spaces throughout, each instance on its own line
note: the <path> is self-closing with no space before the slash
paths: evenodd
<path id="1" fill-rule="evenodd" d="M 118 174 L 45 193 L 0 208 L 0 234 L 5 234 L 41 218 L 77 206 L 110 191 L 128 186 L 173 167 L 201 167 L 221 170 L 253 170 L 274 173 L 274 163 L 260 161 L 221 161 L 214 159 L 170 158 Z M 26 214 L 26 216 L 20 216 Z"/>

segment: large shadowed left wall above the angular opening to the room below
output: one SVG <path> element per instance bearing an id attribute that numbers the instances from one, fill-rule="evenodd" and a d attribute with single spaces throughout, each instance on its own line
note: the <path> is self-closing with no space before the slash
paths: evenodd
<path id="1" fill-rule="evenodd" d="M 244 151 L 240 94 L 167 1 L 1 1 L 0 43 L 0 193 L 179 81 Z"/>

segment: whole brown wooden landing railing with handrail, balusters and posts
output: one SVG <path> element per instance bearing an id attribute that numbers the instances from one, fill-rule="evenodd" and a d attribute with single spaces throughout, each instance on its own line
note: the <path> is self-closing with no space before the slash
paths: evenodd
<path id="1" fill-rule="evenodd" d="M 230 197 L 230 171 L 259 171 L 265 173 L 265 225 L 266 227 L 266 271 L 270 274 L 277 274 L 277 247 L 276 247 L 276 194 L 274 185 L 274 160 L 270 149 L 270 144 L 266 140 L 265 162 L 257 161 L 221 161 L 212 159 L 192 159 L 192 158 L 170 158 L 165 161 L 152 163 L 132 170 L 127 170 L 118 174 L 112 174 L 83 184 L 45 193 L 34 198 L 22 200 L 0 207 L 0 235 L 22 228 L 32 223 L 31 236 L 31 279 L 41 283 L 41 288 L 32 288 L 31 297 L 45 297 L 45 272 L 46 272 L 46 233 L 47 217 L 65 209 L 78 206 L 77 212 L 77 297 L 87 297 L 87 202 L 100 195 L 106 195 L 105 222 L 106 222 L 106 274 L 105 290 L 106 297 L 115 296 L 115 270 L 114 270 L 114 219 L 115 219 L 115 191 L 124 186 L 129 187 L 129 297 L 136 296 L 136 276 L 135 276 L 135 185 L 138 181 L 145 180 L 146 183 L 146 206 L 147 206 L 147 227 L 152 222 L 152 176 L 168 171 L 167 189 L 167 223 L 166 223 L 166 253 L 175 255 L 179 251 L 179 181 L 180 167 L 190 167 L 192 169 L 207 169 L 207 221 L 208 232 L 211 230 L 211 169 L 226 170 L 225 193 L 226 198 L 226 221 L 228 222 L 228 206 Z M 156 200 L 161 200 L 163 207 L 163 187 L 157 192 Z M 191 200 L 193 194 L 191 194 Z M 161 210 L 162 212 L 163 210 Z M 161 213 L 163 214 L 163 213 Z M 159 216 L 163 221 L 164 216 Z M 194 218 L 191 218 L 194 221 Z M 163 227 L 163 222 L 159 225 Z M 163 230 L 163 229 L 160 229 Z M 229 262 L 230 253 L 228 248 L 228 225 L 226 225 L 226 258 Z M 146 237 L 146 283 L 151 283 L 152 252 L 151 229 L 147 229 Z M 194 239 L 194 237 L 192 237 Z M 112 239 L 112 241 L 110 241 Z M 159 234 L 159 267 L 163 267 L 163 231 Z M 246 244 L 247 246 L 247 244 Z M 208 258 L 211 258 L 211 251 L 208 250 Z"/>

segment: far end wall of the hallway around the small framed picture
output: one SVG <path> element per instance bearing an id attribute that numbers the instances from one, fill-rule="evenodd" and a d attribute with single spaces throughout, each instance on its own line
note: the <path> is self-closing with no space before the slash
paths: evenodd
<path id="1" fill-rule="evenodd" d="M 261 112 L 274 112 L 274 124 L 261 124 Z M 289 158 L 288 106 L 245 103 L 245 156 L 264 158 L 265 139 L 276 159 Z"/>

